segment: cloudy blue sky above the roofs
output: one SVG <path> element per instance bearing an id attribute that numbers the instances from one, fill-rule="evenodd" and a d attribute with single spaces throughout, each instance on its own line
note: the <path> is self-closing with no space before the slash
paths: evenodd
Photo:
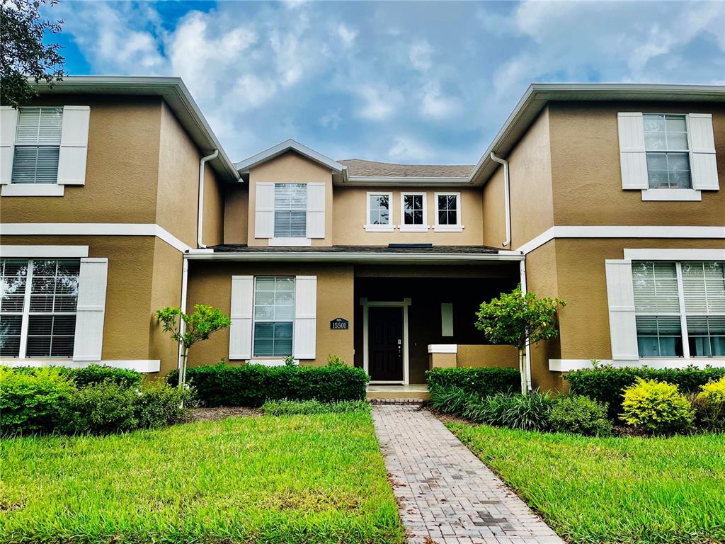
<path id="1" fill-rule="evenodd" d="M 473 163 L 532 81 L 725 83 L 725 2 L 70 1 L 69 75 L 181 75 L 233 160 Z"/>

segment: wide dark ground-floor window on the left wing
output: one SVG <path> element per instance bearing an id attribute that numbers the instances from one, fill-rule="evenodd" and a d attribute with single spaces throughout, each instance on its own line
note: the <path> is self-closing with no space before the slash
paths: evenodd
<path id="1" fill-rule="evenodd" d="M 0 356 L 72 357 L 80 260 L 0 259 Z"/>

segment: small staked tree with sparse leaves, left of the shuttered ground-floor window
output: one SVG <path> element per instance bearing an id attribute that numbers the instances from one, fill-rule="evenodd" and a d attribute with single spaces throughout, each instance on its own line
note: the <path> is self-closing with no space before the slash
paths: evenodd
<path id="1" fill-rule="evenodd" d="M 197 304 L 194 310 L 196 311 L 191 315 L 183 313 L 181 308 L 167 307 L 156 311 L 157 321 L 162 323 L 164 332 L 170 332 L 181 349 L 178 387 L 186 382 L 186 359 L 189 348 L 199 340 L 209 339 L 212 332 L 226 329 L 231 324 L 231 320 L 218 308 Z"/>

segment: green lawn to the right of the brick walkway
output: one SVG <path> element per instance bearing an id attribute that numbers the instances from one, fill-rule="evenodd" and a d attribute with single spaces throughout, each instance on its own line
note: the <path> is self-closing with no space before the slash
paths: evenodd
<path id="1" fill-rule="evenodd" d="M 574 543 L 725 542 L 725 434 L 589 438 L 447 426 Z"/>

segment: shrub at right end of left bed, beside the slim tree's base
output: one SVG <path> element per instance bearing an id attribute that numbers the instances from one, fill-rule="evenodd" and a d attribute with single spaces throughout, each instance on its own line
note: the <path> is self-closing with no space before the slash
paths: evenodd
<path id="1" fill-rule="evenodd" d="M 171 387 L 164 382 L 149 382 L 136 398 L 134 418 L 142 429 L 183 423 L 196 407 L 196 395 L 191 387 Z"/>

